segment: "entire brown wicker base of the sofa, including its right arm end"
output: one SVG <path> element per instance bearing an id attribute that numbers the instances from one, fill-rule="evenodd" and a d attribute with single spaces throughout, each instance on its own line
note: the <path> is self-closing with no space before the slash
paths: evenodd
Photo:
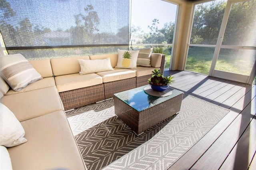
<path id="1" fill-rule="evenodd" d="M 165 55 L 162 55 L 161 71 L 164 72 Z M 60 92 L 60 98 L 65 111 L 83 107 L 98 101 L 104 101 L 114 97 L 114 93 L 134 89 L 148 84 L 148 79 L 152 75 L 133 77 L 91 87 L 84 87 L 70 91 Z"/>

